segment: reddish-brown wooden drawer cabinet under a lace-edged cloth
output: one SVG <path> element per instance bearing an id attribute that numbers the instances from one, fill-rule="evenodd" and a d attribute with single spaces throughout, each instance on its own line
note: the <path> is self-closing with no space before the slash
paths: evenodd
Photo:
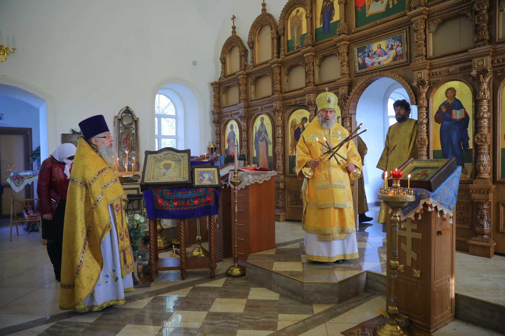
<path id="1" fill-rule="evenodd" d="M 235 194 L 231 188 L 231 246 L 235 253 Z M 275 248 L 274 178 L 237 191 L 237 251 L 246 261 L 250 253 Z"/>

